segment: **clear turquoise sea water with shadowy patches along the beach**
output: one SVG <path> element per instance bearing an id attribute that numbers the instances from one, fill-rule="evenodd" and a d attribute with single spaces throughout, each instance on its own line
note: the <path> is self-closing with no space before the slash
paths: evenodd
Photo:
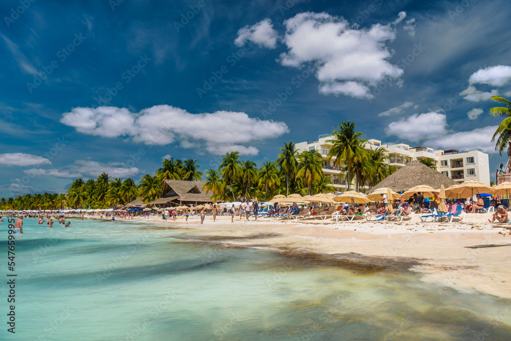
<path id="1" fill-rule="evenodd" d="M 25 219 L 16 328 L 2 340 L 508 340 L 511 302 L 410 271 L 317 265 L 191 243 L 144 222 Z M 7 220 L 0 223 L 7 258 Z M 2 271 L 7 277 L 7 259 Z"/>

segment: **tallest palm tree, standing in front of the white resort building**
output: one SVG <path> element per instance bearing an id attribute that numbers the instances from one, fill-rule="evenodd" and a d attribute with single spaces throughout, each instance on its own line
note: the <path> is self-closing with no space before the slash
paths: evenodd
<path id="1" fill-rule="evenodd" d="M 351 188 L 352 168 L 355 163 L 367 157 L 367 151 L 364 144 L 367 140 L 361 139 L 362 132 L 355 131 L 356 123 L 347 121 L 341 122 L 338 129 L 334 130 L 335 140 L 327 140 L 334 145 L 330 148 L 327 157 L 332 160 L 335 156 L 334 164 L 344 164 L 346 167 L 347 190 Z"/>

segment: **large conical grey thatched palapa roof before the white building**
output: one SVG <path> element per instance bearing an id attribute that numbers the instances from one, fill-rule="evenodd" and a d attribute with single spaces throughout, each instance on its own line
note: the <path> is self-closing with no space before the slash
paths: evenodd
<path id="1" fill-rule="evenodd" d="M 382 187 L 389 187 L 392 191 L 401 193 L 419 185 L 427 185 L 434 189 L 438 189 L 442 185 L 444 185 L 445 188 L 448 188 L 452 185 L 458 185 L 458 183 L 450 177 L 447 177 L 419 161 L 414 160 L 410 161 L 405 167 L 398 169 L 384 178 L 378 185 L 371 188 L 367 193 L 370 194 Z"/>

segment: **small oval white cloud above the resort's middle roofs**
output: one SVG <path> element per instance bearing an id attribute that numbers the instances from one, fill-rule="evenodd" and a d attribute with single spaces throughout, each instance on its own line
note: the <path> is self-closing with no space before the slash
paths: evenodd
<path id="1" fill-rule="evenodd" d="M 436 138 L 447 133 L 446 118 L 446 115 L 437 112 L 414 114 L 400 121 L 390 123 L 386 132 L 414 142 Z"/>

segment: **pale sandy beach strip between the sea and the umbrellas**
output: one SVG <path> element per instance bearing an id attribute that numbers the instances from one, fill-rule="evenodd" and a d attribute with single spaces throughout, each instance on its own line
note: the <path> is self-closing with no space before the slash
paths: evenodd
<path id="1" fill-rule="evenodd" d="M 247 222 L 230 216 L 178 218 L 135 217 L 115 222 L 146 222 L 150 230 L 182 230 L 178 242 L 202 242 L 222 247 L 267 249 L 304 261 L 368 271 L 410 270 L 439 290 L 482 292 L 511 299 L 511 224 L 489 223 L 490 214 L 467 214 L 464 222 L 335 222 L 262 218 Z M 238 218 L 238 219 L 236 219 Z M 105 220 L 99 217 L 85 219 Z M 106 219 L 109 220 L 109 219 Z M 419 221 L 417 221 L 419 220 Z M 508 243 L 509 246 L 505 246 Z M 477 247 L 477 245 L 502 245 Z M 509 248 L 508 248 L 509 247 Z"/>

